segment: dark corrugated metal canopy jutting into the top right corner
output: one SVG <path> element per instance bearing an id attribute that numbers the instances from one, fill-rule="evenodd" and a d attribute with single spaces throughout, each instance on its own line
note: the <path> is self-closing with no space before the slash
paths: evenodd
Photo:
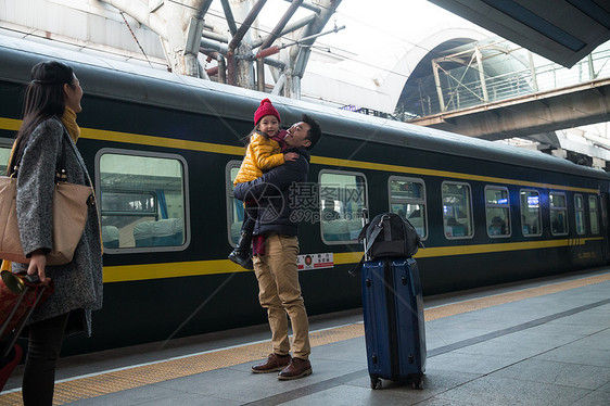
<path id="1" fill-rule="evenodd" d="M 429 0 L 565 67 L 610 39 L 609 0 Z"/>

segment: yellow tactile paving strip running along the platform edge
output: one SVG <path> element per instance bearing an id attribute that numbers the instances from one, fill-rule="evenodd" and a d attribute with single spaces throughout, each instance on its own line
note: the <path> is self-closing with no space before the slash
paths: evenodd
<path id="1" fill-rule="evenodd" d="M 424 312 L 425 321 L 609 280 L 610 272 L 439 306 Z M 312 332 L 310 342 L 312 346 L 318 346 L 364 337 L 364 334 L 365 329 L 363 323 L 355 323 Z M 170 379 L 254 361 L 265 358 L 270 351 L 271 344 L 269 341 L 266 341 L 60 382 L 55 385 L 53 404 L 63 405 L 78 399 L 101 396 Z M 21 392 L 0 395 L 0 404 L 5 406 L 22 405 Z"/>

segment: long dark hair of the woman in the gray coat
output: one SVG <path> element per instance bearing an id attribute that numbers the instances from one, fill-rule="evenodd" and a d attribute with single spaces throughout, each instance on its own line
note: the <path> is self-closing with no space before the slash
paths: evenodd
<path id="1" fill-rule="evenodd" d="M 34 129 L 43 120 L 53 116 L 61 117 L 64 114 L 63 86 L 65 84 L 74 86 L 74 71 L 65 63 L 40 62 L 31 68 L 31 81 L 25 90 L 23 123 L 15 140 L 16 148 L 7 169 L 9 174 L 12 174 Z"/>

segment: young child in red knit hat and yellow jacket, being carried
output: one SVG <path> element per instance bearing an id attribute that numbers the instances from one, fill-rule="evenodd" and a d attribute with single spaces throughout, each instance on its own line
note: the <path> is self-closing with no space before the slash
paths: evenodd
<path id="1" fill-rule="evenodd" d="M 263 176 L 263 172 L 283 165 L 285 162 L 298 157 L 295 152 L 287 152 L 287 131 L 280 130 L 280 113 L 274 107 L 269 99 L 264 99 L 254 113 L 254 129 L 249 136 L 245 156 L 233 185 L 254 180 Z M 256 223 L 257 206 L 255 203 L 245 202 L 245 215 L 241 226 L 238 246 L 229 254 L 229 259 L 246 269 L 253 269 L 250 248 L 252 245 L 252 231 Z"/>

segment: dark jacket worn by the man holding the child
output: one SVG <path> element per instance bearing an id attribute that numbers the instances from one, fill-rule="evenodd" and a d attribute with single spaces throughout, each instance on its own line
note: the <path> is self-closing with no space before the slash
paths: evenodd
<path id="1" fill-rule="evenodd" d="M 309 151 L 291 149 L 284 152 L 296 152 L 298 158 L 276 166 L 258 179 L 236 186 L 234 195 L 237 199 L 244 202 L 254 202 L 258 205 L 254 236 L 270 232 L 296 236 L 298 220 L 291 220 L 292 213 L 297 208 L 315 210 L 315 207 L 294 207 L 294 203 L 301 201 L 297 183 L 307 181 Z"/>

